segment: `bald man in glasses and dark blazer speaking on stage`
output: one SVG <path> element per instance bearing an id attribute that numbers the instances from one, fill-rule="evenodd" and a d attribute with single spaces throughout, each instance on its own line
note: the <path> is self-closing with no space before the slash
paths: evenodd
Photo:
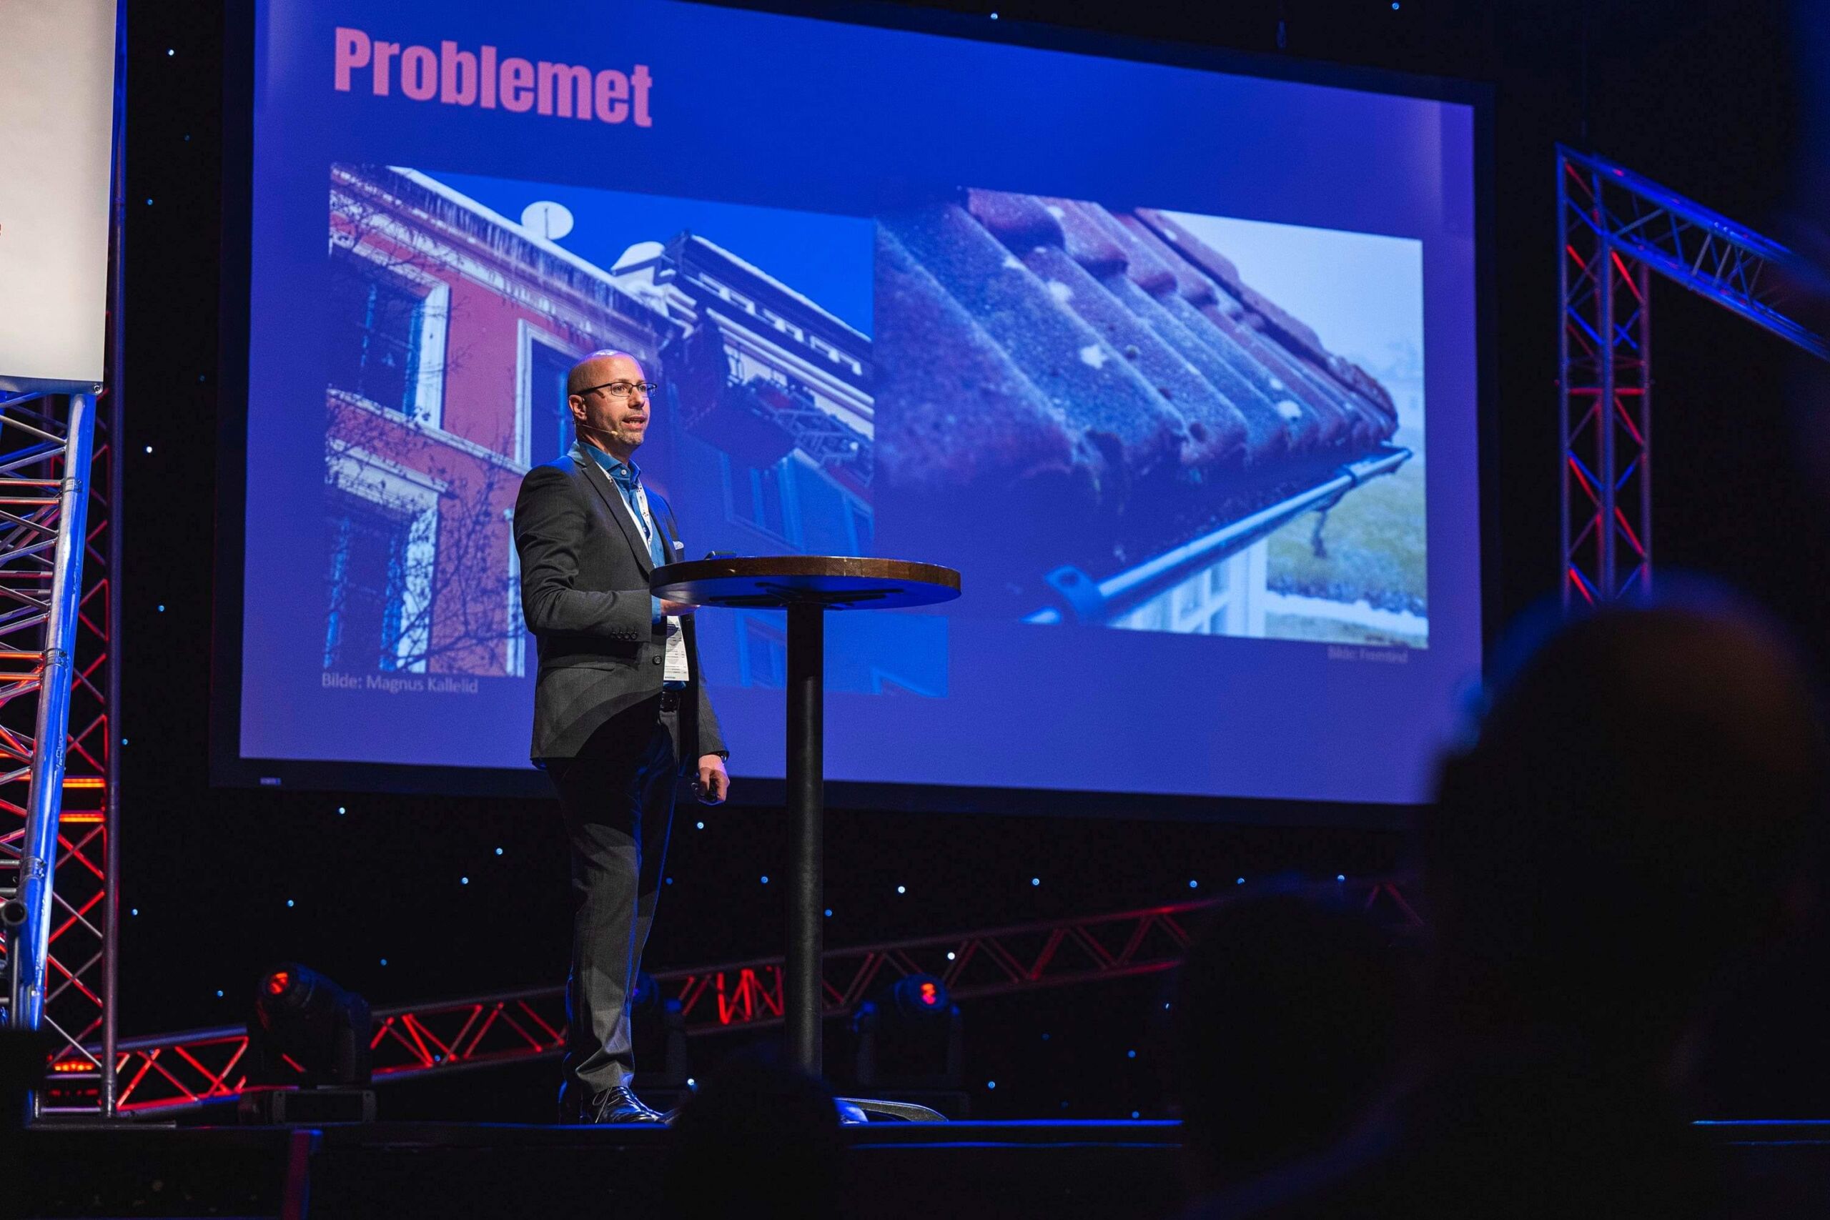
<path id="1" fill-rule="evenodd" d="M 576 443 L 529 470 L 514 501 L 522 613 L 540 646 L 533 759 L 558 790 L 571 840 L 562 1121 L 664 1121 L 630 1088 L 630 993 L 655 918 L 675 785 L 694 770 L 703 803 L 730 792 L 692 607 L 648 593 L 648 574 L 684 549 L 673 512 L 633 461 L 653 391 L 622 351 L 573 366 L 565 401 Z"/>

